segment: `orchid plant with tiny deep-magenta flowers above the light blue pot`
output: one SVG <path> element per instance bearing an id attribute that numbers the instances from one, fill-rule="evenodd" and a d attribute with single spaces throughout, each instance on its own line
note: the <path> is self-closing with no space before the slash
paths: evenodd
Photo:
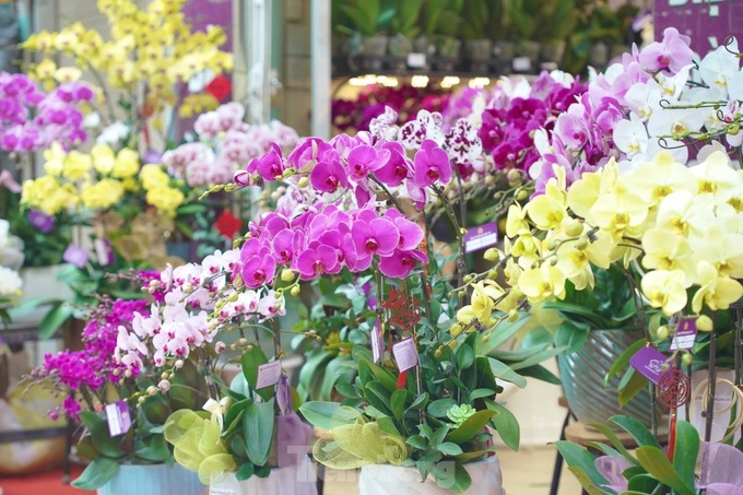
<path id="1" fill-rule="evenodd" d="M 156 272 L 142 271 L 130 282 L 150 288 L 156 280 Z M 154 299 L 162 299 L 162 293 L 151 293 Z M 205 397 L 196 360 L 177 362 L 177 376 L 158 369 L 151 361 L 127 367 L 118 360 L 117 346 L 128 340 L 128 332 L 149 311 L 146 299 L 102 296 L 87 315 L 83 349 L 45 355 L 44 363 L 26 378 L 30 386 L 49 388 L 61 396 L 61 405 L 49 412 L 52 419 L 64 414 L 85 427 L 75 447 L 91 463 L 72 482 L 78 488 L 105 485 L 122 463 L 173 462 L 173 449 L 163 433 L 165 421 L 173 411 L 191 410 Z M 106 417 L 110 408 L 130 419 L 122 420 L 120 432 L 109 429 L 113 426 Z"/>

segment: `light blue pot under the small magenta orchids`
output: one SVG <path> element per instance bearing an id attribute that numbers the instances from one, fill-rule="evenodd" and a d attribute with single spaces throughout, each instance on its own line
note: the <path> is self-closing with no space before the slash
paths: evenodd
<path id="1" fill-rule="evenodd" d="M 121 464 L 98 495 L 205 495 L 199 475 L 180 464 Z"/>

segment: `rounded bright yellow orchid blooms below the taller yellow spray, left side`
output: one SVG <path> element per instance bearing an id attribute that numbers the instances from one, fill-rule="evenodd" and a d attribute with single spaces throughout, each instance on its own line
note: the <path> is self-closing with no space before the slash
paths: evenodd
<path id="1" fill-rule="evenodd" d="M 21 201 L 48 215 L 78 207 L 114 209 L 125 195 L 143 191 L 146 204 L 174 217 L 186 199 L 161 165 L 140 167 L 139 154 L 127 148 L 116 153 L 107 144 L 96 144 L 90 153 L 81 153 L 66 152 L 55 143 L 44 152 L 44 160 L 46 175 L 23 182 Z"/>

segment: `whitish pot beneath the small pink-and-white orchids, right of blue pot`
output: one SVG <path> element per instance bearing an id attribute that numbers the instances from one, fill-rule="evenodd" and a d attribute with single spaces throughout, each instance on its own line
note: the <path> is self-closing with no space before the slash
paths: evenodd
<path id="1" fill-rule="evenodd" d="M 317 495 L 317 475 L 305 456 L 298 465 L 273 469 L 268 478 L 237 481 L 235 474 L 227 473 L 209 486 L 209 495 Z"/>

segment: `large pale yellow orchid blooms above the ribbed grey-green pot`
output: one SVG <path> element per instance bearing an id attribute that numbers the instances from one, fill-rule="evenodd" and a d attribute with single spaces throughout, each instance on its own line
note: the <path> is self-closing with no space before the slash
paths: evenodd
<path id="1" fill-rule="evenodd" d="M 697 315 L 743 296 L 743 173 L 728 155 L 686 167 L 661 152 L 626 174 L 612 160 L 569 189 L 561 170 L 508 212 L 506 276 L 530 303 L 564 298 L 566 281 L 592 287 L 593 266 L 634 261 L 642 295 L 667 316 L 689 292 Z"/>

